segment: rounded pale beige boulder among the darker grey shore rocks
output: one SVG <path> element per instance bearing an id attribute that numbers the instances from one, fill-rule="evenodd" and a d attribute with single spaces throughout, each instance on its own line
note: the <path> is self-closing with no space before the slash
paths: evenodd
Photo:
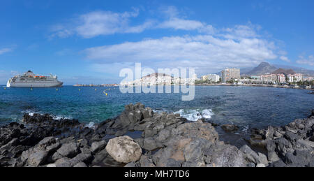
<path id="1" fill-rule="evenodd" d="M 105 149 L 114 160 L 122 163 L 137 161 L 142 155 L 140 145 L 129 136 L 110 139 Z"/>

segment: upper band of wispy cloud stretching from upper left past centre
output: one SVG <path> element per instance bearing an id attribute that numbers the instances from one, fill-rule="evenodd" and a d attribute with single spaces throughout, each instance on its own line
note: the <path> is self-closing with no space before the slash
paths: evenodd
<path id="1" fill-rule="evenodd" d="M 214 27 L 197 20 L 187 20 L 179 16 L 177 8 L 170 6 L 161 11 L 164 20 L 148 19 L 137 25 L 130 25 L 132 18 L 139 15 L 139 10 L 133 12 L 114 13 L 111 11 L 94 11 L 76 17 L 65 24 L 52 26 L 50 38 L 68 38 L 77 34 L 83 38 L 93 38 L 110 34 L 138 34 L 146 29 L 175 29 L 213 34 Z"/>

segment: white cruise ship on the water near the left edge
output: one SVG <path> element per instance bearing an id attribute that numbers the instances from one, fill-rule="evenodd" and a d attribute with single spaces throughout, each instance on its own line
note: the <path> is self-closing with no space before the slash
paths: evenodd
<path id="1" fill-rule="evenodd" d="M 61 87 L 63 82 L 57 80 L 57 75 L 38 76 L 32 71 L 23 75 L 15 75 L 6 83 L 6 87 Z"/>

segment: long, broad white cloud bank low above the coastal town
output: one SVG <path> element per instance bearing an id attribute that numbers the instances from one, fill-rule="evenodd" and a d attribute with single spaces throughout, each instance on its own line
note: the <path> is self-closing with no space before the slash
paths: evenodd
<path id="1" fill-rule="evenodd" d="M 236 41 L 211 35 L 144 39 L 88 48 L 85 52 L 87 59 L 97 64 L 137 61 L 155 68 L 183 66 L 207 71 L 251 66 L 277 57 L 272 42 L 259 38 Z"/>

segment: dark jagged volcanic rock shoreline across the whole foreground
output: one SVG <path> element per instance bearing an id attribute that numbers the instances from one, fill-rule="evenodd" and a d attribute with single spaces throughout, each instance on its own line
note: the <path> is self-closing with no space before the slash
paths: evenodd
<path id="1" fill-rule="evenodd" d="M 135 139 L 126 136 L 134 133 Z M 22 123 L 0 128 L 0 166 L 314 166 L 314 114 L 287 126 L 253 129 L 248 145 L 226 145 L 209 122 L 188 122 L 137 103 L 93 128 L 25 114 Z"/>

